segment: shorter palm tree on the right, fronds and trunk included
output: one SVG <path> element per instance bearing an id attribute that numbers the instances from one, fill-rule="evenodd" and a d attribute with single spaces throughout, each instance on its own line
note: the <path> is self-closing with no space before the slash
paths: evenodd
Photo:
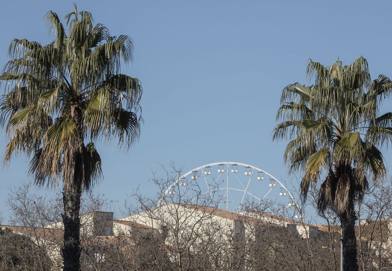
<path id="1" fill-rule="evenodd" d="M 307 76 L 314 85 L 283 89 L 273 140 L 291 140 L 283 158 L 290 173 L 303 172 L 301 199 L 318 187 L 318 211 L 330 208 L 341 222 L 344 270 L 358 270 L 355 204 L 386 176 L 379 148 L 392 142 L 392 113 L 379 113 L 392 82 L 383 75 L 371 81 L 363 57 L 348 66 L 310 60 Z"/>

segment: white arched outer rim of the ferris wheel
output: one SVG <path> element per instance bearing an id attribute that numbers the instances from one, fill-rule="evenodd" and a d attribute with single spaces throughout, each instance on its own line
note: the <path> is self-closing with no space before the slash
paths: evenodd
<path id="1" fill-rule="evenodd" d="M 273 175 L 271 175 L 270 173 L 268 173 L 268 172 L 265 171 L 265 170 L 262 170 L 261 168 L 258 168 L 258 167 L 256 167 L 256 166 L 252 166 L 252 165 L 250 165 L 250 164 L 239 163 L 239 162 L 230 162 L 230 161 L 226 161 L 226 162 L 215 162 L 215 163 L 210 163 L 210 164 L 204 164 L 204 165 L 202 165 L 202 166 L 198 166 L 197 168 L 194 168 L 194 169 L 192 169 L 192 170 L 189 170 L 187 173 L 181 175 L 178 179 L 176 179 L 176 181 L 174 181 L 174 182 L 165 190 L 165 193 L 162 195 L 162 198 L 161 198 L 161 200 L 160 200 L 160 202 L 159 202 L 158 205 L 161 205 L 161 204 L 162 204 L 162 199 L 167 195 L 167 193 L 169 193 L 169 191 L 171 190 L 171 188 L 173 188 L 175 185 L 178 184 L 178 182 L 181 180 L 181 178 L 184 178 L 184 177 L 188 176 L 189 174 L 191 174 L 192 172 L 197 171 L 197 170 L 200 170 L 200 169 L 203 169 L 203 168 L 205 168 L 205 167 L 217 166 L 217 165 L 222 165 L 222 164 L 223 164 L 223 165 L 227 165 L 227 166 L 229 166 L 229 165 L 237 165 L 237 166 L 245 166 L 245 167 L 252 168 L 252 169 L 253 169 L 252 175 L 253 175 L 254 170 L 258 170 L 259 172 L 265 173 L 266 175 L 268 175 L 268 176 L 270 177 L 270 179 L 273 179 L 274 181 L 276 181 L 277 183 L 279 183 L 280 186 L 281 186 L 281 188 L 283 188 L 283 189 L 286 190 L 286 192 L 288 193 L 288 195 L 289 195 L 291 201 L 295 204 L 296 209 L 299 210 L 298 203 L 297 203 L 296 200 L 294 199 L 293 195 L 290 193 L 290 191 L 287 189 L 287 187 L 286 187 L 283 183 L 281 183 L 278 179 L 276 179 Z M 204 179 L 205 179 L 204 172 L 201 171 L 201 173 L 203 174 L 203 177 L 204 177 Z M 227 174 L 228 174 L 228 173 L 229 173 L 229 172 L 227 172 Z M 222 173 L 220 173 L 220 175 L 221 175 L 221 174 L 222 174 Z M 250 179 L 252 178 L 252 175 L 250 176 Z M 238 179 L 238 178 L 237 178 L 237 179 Z M 249 182 L 250 182 L 250 179 L 249 179 Z M 206 180 L 206 179 L 205 179 L 205 181 L 206 181 L 206 184 L 207 184 L 207 180 Z M 249 185 L 249 182 L 248 182 L 248 185 Z M 275 187 L 275 186 L 273 186 L 273 187 L 269 190 L 269 192 L 270 192 L 274 187 Z M 209 192 L 210 192 L 210 188 L 209 188 L 209 185 L 208 185 L 208 184 L 207 184 L 207 188 L 208 188 L 208 191 L 207 191 L 206 193 L 209 193 Z M 229 187 L 227 187 L 227 189 L 229 189 Z M 247 189 L 246 189 L 246 188 L 245 188 L 245 191 L 244 191 L 244 192 L 245 192 L 245 193 L 249 193 L 249 192 L 247 192 Z M 269 194 L 269 192 L 267 192 L 267 194 L 266 194 L 263 198 L 261 198 L 261 201 L 263 201 L 263 199 Z M 245 194 L 244 194 L 244 195 L 245 195 Z M 252 195 L 252 194 L 251 194 L 251 195 Z M 252 195 L 252 196 L 255 197 L 254 195 Z M 256 199 L 258 199 L 258 198 L 256 197 Z M 243 201 L 243 199 L 242 199 L 242 201 Z M 240 205 L 242 204 L 242 201 L 241 201 Z M 287 207 L 285 207 L 285 208 L 287 208 Z"/>

